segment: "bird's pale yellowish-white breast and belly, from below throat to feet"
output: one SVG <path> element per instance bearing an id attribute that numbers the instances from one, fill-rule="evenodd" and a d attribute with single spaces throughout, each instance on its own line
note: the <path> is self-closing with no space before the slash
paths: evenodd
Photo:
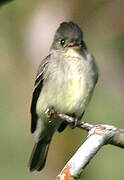
<path id="1" fill-rule="evenodd" d="M 80 116 L 90 98 L 92 78 L 87 65 L 75 59 L 54 66 L 44 81 L 37 103 L 37 112 L 54 107 L 60 113 L 75 113 Z"/>

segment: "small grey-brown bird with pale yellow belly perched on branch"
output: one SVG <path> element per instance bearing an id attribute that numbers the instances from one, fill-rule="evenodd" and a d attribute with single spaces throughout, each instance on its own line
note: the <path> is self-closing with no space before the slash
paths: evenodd
<path id="1" fill-rule="evenodd" d="M 35 145 L 29 170 L 41 171 L 53 135 L 62 132 L 67 123 L 46 116 L 55 108 L 59 113 L 82 120 L 98 80 L 94 56 L 89 53 L 83 31 L 74 22 L 62 22 L 57 28 L 49 54 L 37 71 L 31 102 L 31 133 Z"/>

